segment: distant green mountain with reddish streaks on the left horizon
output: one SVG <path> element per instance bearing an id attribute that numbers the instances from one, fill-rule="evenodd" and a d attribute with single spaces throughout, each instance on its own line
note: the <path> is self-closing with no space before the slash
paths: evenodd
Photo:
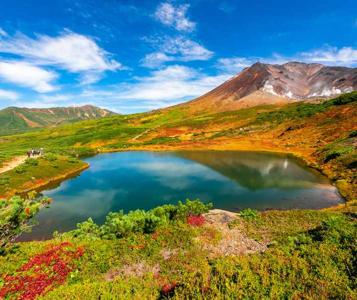
<path id="1" fill-rule="evenodd" d="M 117 115 L 117 113 L 93 105 L 53 108 L 12 106 L 0 110 L 0 136 L 20 134 L 41 128 L 57 127 L 63 124 L 114 115 Z"/>

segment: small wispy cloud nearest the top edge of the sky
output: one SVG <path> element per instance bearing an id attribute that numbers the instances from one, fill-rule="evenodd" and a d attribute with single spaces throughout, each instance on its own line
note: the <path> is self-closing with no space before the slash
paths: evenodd
<path id="1" fill-rule="evenodd" d="M 154 17 L 161 23 L 174 27 L 176 30 L 191 32 L 195 29 L 196 23 L 186 18 L 188 7 L 189 4 L 174 7 L 170 3 L 161 3 L 156 9 Z"/>

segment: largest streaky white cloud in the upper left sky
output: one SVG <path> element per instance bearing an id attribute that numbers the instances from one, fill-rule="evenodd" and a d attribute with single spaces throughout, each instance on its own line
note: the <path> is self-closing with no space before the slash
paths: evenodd
<path id="1" fill-rule="evenodd" d="M 21 33 L 0 38 L 0 52 L 17 54 L 33 64 L 51 65 L 72 73 L 90 72 L 82 76 L 85 84 L 100 80 L 106 70 L 125 69 L 94 40 L 70 31 L 55 38 L 37 35 L 31 39 Z"/>

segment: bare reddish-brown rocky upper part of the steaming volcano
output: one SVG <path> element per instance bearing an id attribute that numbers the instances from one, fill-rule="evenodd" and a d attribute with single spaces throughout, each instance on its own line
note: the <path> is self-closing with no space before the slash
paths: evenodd
<path id="1" fill-rule="evenodd" d="M 257 62 L 202 97 L 238 100 L 259 89 L 297 99 L 341 94 L 357 89 L 357 68 L 297 61 L 282 65 Z"/>

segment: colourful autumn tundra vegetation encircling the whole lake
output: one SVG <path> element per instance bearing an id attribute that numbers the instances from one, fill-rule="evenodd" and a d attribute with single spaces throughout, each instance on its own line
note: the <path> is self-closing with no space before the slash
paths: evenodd
<path id="1" fill-rule="evenodd" d="M 0 174 L 0 298 L 357 299 L 356 131 L 353 92 L 237 111 L 172 108 L 3 137 L 1 161 L 32 147 L 48 153 L 37 165 L 28 160 L 21 172 Z M 29 230 L 21 226 L 48 204 L 12 196 L 16 191 L 85 167 L 77 155 L 143 149 L 291 152 L 326 174 L 347 203 L 318 211 L 247 209 L 222 224 L 264 243 L 264 252 L 212 256 L 207 245 L 218 247 L 223 237 L 205 220 L 210 205 L 198 200 L 111 212 L 103 225 L 88 219 L 50 241 L 12 244 L 9 233 Z M 8 222 L 12 229 L 4 232 Z"/>

